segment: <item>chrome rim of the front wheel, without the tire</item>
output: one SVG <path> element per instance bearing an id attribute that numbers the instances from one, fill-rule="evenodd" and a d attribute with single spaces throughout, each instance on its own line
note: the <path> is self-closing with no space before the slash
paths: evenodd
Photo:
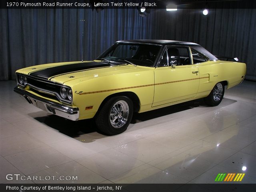
<path id="1" fill-rule="evenodd" d="M 129 117 L 129 105 L 126 101 L 116 102 L 110 111 L 110 123 L 114 128 L 121 128 Z"/>

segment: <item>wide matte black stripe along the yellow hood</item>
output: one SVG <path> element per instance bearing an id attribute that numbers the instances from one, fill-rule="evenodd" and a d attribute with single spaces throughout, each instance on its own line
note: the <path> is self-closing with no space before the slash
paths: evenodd
<path id="1" fill-rule="evenodd" d="M 43 70 L 38 70 L 30 73 L 29 75 L 34 77 L 40 77 L 44 79 L 48 79 L 50 77 L 59 76 L 62 74 L 69 74 L 76 71 L 88 70 L 92 68 L 101 68 L 101 67 L 110 67 L 111 65 L 108 63 L 102 62 L 85 62 L 85 63 L 75 63 L 68 65 L 60 65 L 56 67 L 50 67 Z"/>

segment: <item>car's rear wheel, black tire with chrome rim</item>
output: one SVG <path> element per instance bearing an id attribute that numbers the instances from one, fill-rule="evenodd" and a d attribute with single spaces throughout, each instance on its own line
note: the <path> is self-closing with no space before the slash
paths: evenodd
<path id="1" fill-rule="evenodd" d="M 217 106 L 222 101 L 225 87 L 222 82 L 217 83 L 210 94 L 204 98 L 204 102 L 209 106 Z"/>

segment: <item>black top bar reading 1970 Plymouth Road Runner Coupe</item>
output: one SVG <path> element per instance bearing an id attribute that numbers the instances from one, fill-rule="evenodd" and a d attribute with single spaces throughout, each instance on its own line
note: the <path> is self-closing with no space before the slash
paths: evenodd
<path id="1" fill-rule="evenodd" d="M 168 4 L 178 9 L 256 8 L 255 0 L 1 0 L 4 9 L 166 9 Z"/>

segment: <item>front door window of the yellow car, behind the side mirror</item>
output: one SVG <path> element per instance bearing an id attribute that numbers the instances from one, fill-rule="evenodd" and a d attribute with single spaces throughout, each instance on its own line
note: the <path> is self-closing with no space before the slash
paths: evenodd
<path id="1" fill-rule="evenodd" d="M 176 47 L 171 46 L 167 50 L 169 58 L 169 66 L 180 66 L 180 65 L 190 65 L 190 54 L 189 49 L 186 47 Z"/>

